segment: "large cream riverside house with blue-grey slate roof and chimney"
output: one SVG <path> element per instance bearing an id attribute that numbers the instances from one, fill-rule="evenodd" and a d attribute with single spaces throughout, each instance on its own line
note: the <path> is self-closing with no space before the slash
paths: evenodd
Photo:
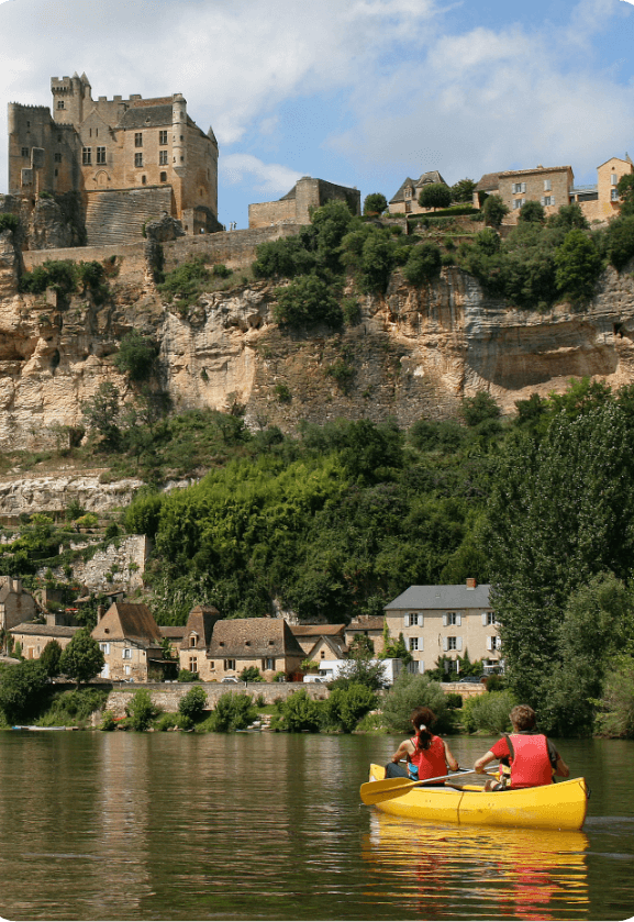
<path id="1" fill-rule="evenodd" d="M 441 656 L 457 660 L 468 651 L 471 662 L 489 669 L 501 664 L 501 643 L 488 585 L 410 586 L 386 608 L 390 636 L 403 635 L 413 657 L 411 671 L 435 668 Z"/>

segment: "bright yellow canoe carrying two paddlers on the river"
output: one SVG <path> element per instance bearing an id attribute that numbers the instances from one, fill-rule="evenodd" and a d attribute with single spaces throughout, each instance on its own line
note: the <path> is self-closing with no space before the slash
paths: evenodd
<path id="1" fill-rule="evenodd" d="M 383 778 L 385 768 L 371 765 L 370 781 Z M 588 787 L 583 778 L 516 791 L 416 787 L 376 807 L 393 817 L 434 823 L 580 830 L 588 809 Z"/>

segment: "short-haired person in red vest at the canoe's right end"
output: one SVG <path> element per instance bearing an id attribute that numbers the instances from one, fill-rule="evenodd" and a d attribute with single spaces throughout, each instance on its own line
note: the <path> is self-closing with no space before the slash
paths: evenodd
<path id="1" fill-rule="evenodd" d="M 509 767 L 500 781 L 487 781 L 485 790 L 501 791 L 552 785 L 553 775 L 568 778 L 570 769 L 547 736 L 535 730 L 535 711 L 527 704 L 518 704 L 509 714 L 513 732 L 499 740 L 474 765 L 482 775 L 485 766 L 493 759 Z"/>

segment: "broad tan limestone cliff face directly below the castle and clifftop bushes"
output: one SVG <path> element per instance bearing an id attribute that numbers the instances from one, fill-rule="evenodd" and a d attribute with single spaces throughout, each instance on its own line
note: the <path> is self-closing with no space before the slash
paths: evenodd
<path id="1" fill-rule="evenodd" d="M 272 322 L 275 287 L 266 282 L 213 291 L 187 310 L 167 304 L 143 245 L 121 248 L 119 275 L 101 304 L 88 296 L 63 301 L 53 291 L 19 295 L 10 236 L 0 236 L 0 448 L 42 447 L 60 425 L 79 425 L 81 402 L 102 381 L 130 399 L 112 356 L 132 327 L 159 343 L 156 386 L 169 391 L 176 410 L 238 402 L 254 427 L 289 430 L 300 419 L 342 415 L 391 415 L 409 425 L 423 414 L 454 414 L 464 396 L 480 389 L 512 412 L 515 400 L 563 389 L 570 376 L 616 386 L 634 380 L 634 280 L 626 271 L 609 268 L 585 311 L 560 306 L 547 314 L 510 310 L 455 268 L 420 289 L 396 274 L 385 298 L 363 299 L 355 326 L 300 334 Z M 212 262 L 214 237 L 226 236 L 200 244 Z M 174 263 L 178 247 L 192 243 L 167 246 Z M 234 268 L 238 279 L 238 263 Z M 337 368 L 345 380 L 333 377 Z"/>

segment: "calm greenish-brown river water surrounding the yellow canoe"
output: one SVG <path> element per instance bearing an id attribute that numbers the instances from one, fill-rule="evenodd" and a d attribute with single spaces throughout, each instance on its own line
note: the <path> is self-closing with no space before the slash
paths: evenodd
<path id="1" fill-rule="evenodd" d="M 404 823 L 359 806 L 397 737 L 0 734 L 0 917 L 499 920 L 634 913 L 634 742 L 559 741 L 582 832 Z M 490 740 L 453 737 L 461 765 Z"/>

